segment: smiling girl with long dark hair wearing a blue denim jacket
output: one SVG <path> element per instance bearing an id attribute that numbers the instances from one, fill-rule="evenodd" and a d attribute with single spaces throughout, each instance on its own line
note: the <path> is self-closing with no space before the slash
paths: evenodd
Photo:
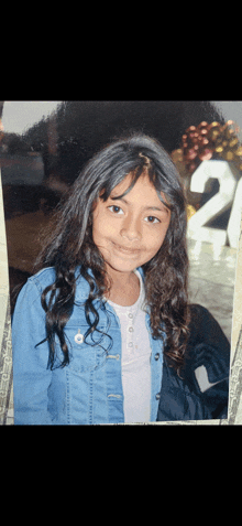
<path id="1" fill-rule="evenodd" d="M 190 318 L 186 203 L 164 149 L 143 135 L 109 144 L 53 223 L 41 270 L 13 314 L 15 423 L 210 418 L 182 375 Z"/>

